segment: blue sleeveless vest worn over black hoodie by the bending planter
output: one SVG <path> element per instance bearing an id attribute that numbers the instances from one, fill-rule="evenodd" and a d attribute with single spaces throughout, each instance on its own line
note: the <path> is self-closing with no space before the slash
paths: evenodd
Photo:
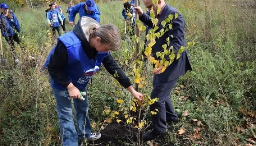
<path id="1" fill-rule="evenodd" d="M 77 38 L 73 31 L 60 36 L 58 39 L 67 47 L 68 64 L 65 67 L 65 73 L 68 75 L 69 80 L 77 89 L 85 89 L 90 79 L 99 70 L 104 57 L 108 55 L 109 52 L 98 52 L 96 59 L 91 60 L 86 55 L 81 41 Z M 47 57 L 43 69 L 49 63 L 49 60 L 54 53 L 54 49 L 55 47 Z M 63 88 L 53 79 L 51 82 L 53 83 L 54 88 L 59 90 L 67 90 L 67 88 Z"/>

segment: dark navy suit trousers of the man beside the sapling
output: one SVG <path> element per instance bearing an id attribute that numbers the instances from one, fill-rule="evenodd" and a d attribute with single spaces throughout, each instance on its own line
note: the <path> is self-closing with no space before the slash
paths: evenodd
<path id="1" fill-rule="evenodd" d="M 154 125 L 153 132 L 156 134 L 163 134 L 167 129 L 166 121 L 178 120 L 178 115 L 175 113 L 170 99 L 170 92 L 177 83 L 178 79 L 170 82 L 162 82 L 159 80 L 160 75 L 154 75 L 153 91 L 151 92 L 151 99 L 159 98 L 157 102 L 150 105 L 151 111 L 156 111 L 157 114 L 152 115 L 152 121 Z"/>

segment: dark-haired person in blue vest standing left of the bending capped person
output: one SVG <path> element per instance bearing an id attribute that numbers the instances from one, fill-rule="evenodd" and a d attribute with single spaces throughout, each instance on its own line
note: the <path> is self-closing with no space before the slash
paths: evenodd
<path id="1" fill-rule="evenodd" d="M 60 26 L 63 25 L 61 14 L 55 9 L 55 4 L 50 4 L 49 7 L 50 9 L 45 10 L 47 22 L 52 28 L 54 35 L 57 30 L 59 36 L 61 36 Z"/>

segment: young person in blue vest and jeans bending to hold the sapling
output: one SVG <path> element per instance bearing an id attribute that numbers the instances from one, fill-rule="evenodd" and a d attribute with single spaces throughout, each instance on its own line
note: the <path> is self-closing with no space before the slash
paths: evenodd
<path id="1" fill-rule="evenodd" d="M 100 133 L 91 133 L 88 115 L 87 84 L 99 71 L 101 63 L 117 81 L 138 100 L 142 94 L 136 92 L 129 78 L 118 66 L 109 51 L 121 48 L 119 30 L 114 25 L 102 25 L 93 18 L 81 17 L 72 31 L 58 38 L 57 45 L 50 52 L 43 66 L 47 66 L 50 83 L 56 99 L 60 121 L 60 135 L 64 146 L 77 146 L 87 140 L 97 140 Z M 68 92 L 68 95 L 66 92 Z M 77 132 L 75 130 L 71 98 L 76 110 Z"/>

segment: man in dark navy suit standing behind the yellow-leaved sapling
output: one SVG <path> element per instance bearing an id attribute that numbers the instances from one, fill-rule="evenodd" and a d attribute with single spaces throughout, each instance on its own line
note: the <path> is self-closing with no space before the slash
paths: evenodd
<path id="1" fill-rule="evenodd" d="M 158 18 L 157 26 L 159 27 L 156 32 L 159 32 L 163 29 L 161 25 L 161 21 L 165 20 L 170 14 L 174 17 L 169 22 L 172 24 L 172 29 L 165 32 L 163 36 L 159 39 L 156 39 L 156 44 L 152 47 L 153 57 L 155 59 L 159 59 L 156 56 L 156 52 L 163 51 L 162 45 L 167 44 L 166 38 L 169 37 L 170 44 L 167 48 L 173 46 L 173 50 L 177 53 L 181 46 L 186 47 L 185 42 L 185 22 L 182 14 L 176 9 L 164 2 L 164 0 L 158 0 L 157 5 L 154 5 L 152 0 L 144 0 L 145 6 L 151 6 L 155 11 L 155 16 Z M 161 8 L 161 11 L 157 14 L 157 7 Z M 139 20 L 142 21 L 149 28 L 153 27 L 153 23 L 151 18 L 146 13 L 143 13 L 142 9 L 138 7 L 134 7 L 135 12 L 139 14 Z M 175 13 L 178 13 L 178 17 L 175 19 Z M 166 25 L 168 25 L 167 23 Z M 176 55 L 177 56 L 177 55 Z M 175 57 L 176 58 L 176 57 Z M 184 75 L 188 70 L 192 71 L 192 67 L 190 65 L 188 51 L 185 49 L 183 53 L 181 53 L 181 57 L 179 59 L 174 59 L 171 65 L 169 65 L 164 72 L 161 73 L 162 66 L 158 67 L 153 71 L 154 81 L 153 81 L 153 91 L 151 93 L 151 99 L 159 98 L 158 102 L 155 102 L 150 106 L 151 111 L 155 111 L 158 109 L 158 113 L 156 115 L 152 115 L 154 129 L 150 132 L 143 134 L 143 140 L 149 141 L 156 138 L 159 135 L 165 133 L 167 129 L 167 122 L 177 122 L 178 115 L 175 113 L 171 100 L 170 100 L 170 92 L 172 88 L 177 83 L 180 76 Z"/>

